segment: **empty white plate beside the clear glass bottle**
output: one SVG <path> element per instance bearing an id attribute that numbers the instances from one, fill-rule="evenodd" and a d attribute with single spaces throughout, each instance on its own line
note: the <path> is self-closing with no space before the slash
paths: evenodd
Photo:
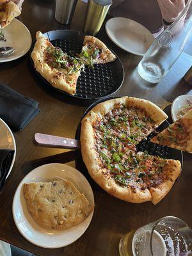
<path id="1" fill-rule="evenodd" d="M 145 55 L 155 39 L 140 23 L 120 17 L 106 22 L 106 33 L 118 47 L 140 56 Z"/>

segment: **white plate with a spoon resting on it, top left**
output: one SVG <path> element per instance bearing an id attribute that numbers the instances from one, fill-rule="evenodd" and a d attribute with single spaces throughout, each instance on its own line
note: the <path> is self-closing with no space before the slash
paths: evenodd
<path id="1" fill-rule="evenodd" d="M 26 54 L 31 47 L 31 34 L 22 22 L 13 19 L 12 22 L 3 29 L 6 42 L 0 41 L 0 47 L 11 46 L 15 52 L 7 57 L 0 57 L 0 63 L 6 61 L 17 60 Z"/>

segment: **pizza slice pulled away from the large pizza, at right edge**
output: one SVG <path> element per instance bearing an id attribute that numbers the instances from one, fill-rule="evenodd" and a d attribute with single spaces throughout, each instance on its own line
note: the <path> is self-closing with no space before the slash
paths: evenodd
<path id="1" fill-rule="evenodd" d="M 192 152 L 192 109 L 173 124 L 169 125 L 164 131 L 159 132 L 150 141 L 171 148 Z"/>

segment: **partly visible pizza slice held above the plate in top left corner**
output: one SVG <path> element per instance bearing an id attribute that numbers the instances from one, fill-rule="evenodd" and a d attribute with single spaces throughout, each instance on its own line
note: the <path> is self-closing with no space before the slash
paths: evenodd
<path id="1" fill-rule="evenodd" d="M 5 28 L 10 22 L 20 15 L 17 4 L 13 2 L 3 3 L 0 5 L 0 28 Z"/>

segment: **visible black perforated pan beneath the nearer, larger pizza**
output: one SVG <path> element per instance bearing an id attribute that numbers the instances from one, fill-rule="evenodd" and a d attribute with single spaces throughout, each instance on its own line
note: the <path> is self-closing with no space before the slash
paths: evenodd
<path id="1" fill-rule="evenodd" d="M 119 98 L 119 97 L 106 97 L 105 99 L 97 100 L 97 102 L 93 103 L 88 109 L 86 109 L 81 120 L 88 113 L 88 111 L 90 111 L 94 106 L 96 106 L 100 102 L 104 102 L 106 100 L 116 99 L 116 98 Z M 164 121 L 163 124 L 161 124 L 159 127 L 157 127 L 156 131 L 161 132 L 164 129 L 166 129 L 166 127 L 168 127 L 168 125 L 169 125 L 168 121 Z M 81 133 L 81 122 L 79 123 L 79 125 L 77 127 L 76 140 L 80 140 L 80 133 Z M 153 155 L 153 156 L 160 156 L 160 157 L 163 157 L 166 159 L 179 160 L 181 163 L 181 168 L 182 168 L 182 163 L 183 163 L 182 151 L 176 150 L 174 148 L 169 148 L 166 146 L 157 145 L 155 143 L 150 142 L 150 139 L 152 137 L 154 137 L 155 135 L 156 135 L 156 132 L 152 132 L 151 134 L 149 134 L 146 139 L 143 139 L 136 146 L 136 150 L 142 151 L 142 152 L 147 150 L 148 154 Z M 81 156 L 81 150 L 77 150 L 76 168 L 77 168 L 77 170 L 86 170 L 86 166 L 83 163 L 83 158 Z M 86 173 L 88 173 L 88 172 L 85 172 L 84 175 L 86 175 Z"/>

